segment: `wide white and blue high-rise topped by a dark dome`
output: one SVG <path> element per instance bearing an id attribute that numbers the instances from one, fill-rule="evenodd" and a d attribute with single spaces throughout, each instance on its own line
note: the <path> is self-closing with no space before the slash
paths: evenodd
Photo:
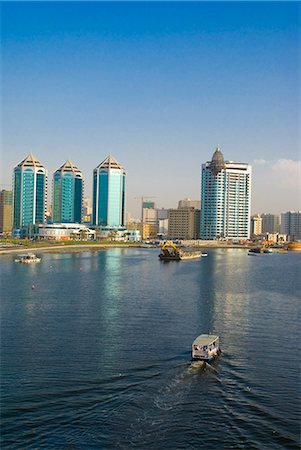
<path id="1" fill-rule="evenodd" d="M 251 166 L 224 160 L 217 148 L 202 164 L 201 239 L 249 239 Z"/>

